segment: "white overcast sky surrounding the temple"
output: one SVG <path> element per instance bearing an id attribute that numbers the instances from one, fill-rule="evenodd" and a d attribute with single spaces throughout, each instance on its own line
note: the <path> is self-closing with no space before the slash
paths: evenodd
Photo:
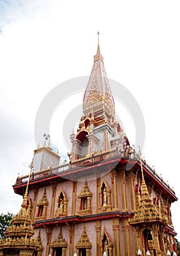
<path id="1" fill-rule="evenodd" d="M 108 77 L 133 94 L 144 114 L 146 162 L 180 197 L 179 13 L 176 0 L 0 0 L 0 213 L 20 209 L 22 198 L 12 184 L 17 173 L 28 173 L 42 99 L 59 83 L 90 75 L 97 31 Z M 60 124 L 77 102 L 82 95 L 67 99 L 52 118 L 52 143 L 63 154 L 69 149 L 60 143 Z M 120 112 L 133 143 L 132 118 L 127 110 Z M 60 124 L 55 125 L 55 118 Z M 179 201 L 173 203 L 173 223 L 180 233 L 179 208 Z"/>

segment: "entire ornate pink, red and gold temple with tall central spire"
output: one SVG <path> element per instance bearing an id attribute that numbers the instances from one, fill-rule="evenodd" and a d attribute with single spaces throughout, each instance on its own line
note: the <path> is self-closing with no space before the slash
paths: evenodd
<path id="1" fill-rule="evenodd" d="M 176 194 L 116 121 L 99 40 L 82 112 L 69 162 L 59 165 L 49 140 L 34 151 L 30 175 L 17 177 L 23 204 L 0 256 L 176 255 Z"/>

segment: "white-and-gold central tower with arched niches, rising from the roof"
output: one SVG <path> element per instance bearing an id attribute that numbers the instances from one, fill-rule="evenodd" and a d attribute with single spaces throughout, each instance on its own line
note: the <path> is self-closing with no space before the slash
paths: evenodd
<path id="1" fill-rule="evenodd" d="M 72 143 L 71 162 L 109 151 L 112 148 L 115 149 L 117 143 L 123 150 L 125 138 L 122 137 L 124 136 L 122 129 L 115 117 L 114 97 L 111 94 L 103 64 L 99 32 L 98 48 L 85 89 L 82 112 L 77 134 L 72 134 L 70 137 Z"/>

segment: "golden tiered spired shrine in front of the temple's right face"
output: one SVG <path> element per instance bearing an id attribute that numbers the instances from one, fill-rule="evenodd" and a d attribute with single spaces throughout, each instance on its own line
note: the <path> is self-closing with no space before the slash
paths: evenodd
<path id="1" fill-rule="evenodd" d="M 141 159 L 140 159 L 141 160 Z M 154 250 L 157 255 L 162 255 L 164 251 L 163 244 L 163 223 L 165 219 L 159 214 L 157 205 L 152 202 L 149 192 L 146 187 L 146 182 L 144 180 L 144 171 L 141 163 L 141 196 L 138 203 L 138 211 L 134 214 L 132 219 L 129 219 L 129 224 L 133 225 L 139 237 L 143 236 L 144 244 L 141 245 L 141 240 L 138 238 L 138 246 L 145 246 L 145 250 L 149 249 L 151 255 L 154 254 Z M 172 248 L 172 247 L 171 247 Z"/>

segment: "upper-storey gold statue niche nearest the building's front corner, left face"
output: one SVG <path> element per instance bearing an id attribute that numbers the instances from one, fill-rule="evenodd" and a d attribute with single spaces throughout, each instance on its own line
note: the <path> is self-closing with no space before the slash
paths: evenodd
<path id="1" fill-rule="evenodd" d="M 103 180 L 99 189 L 99 210 L 100 211 L 111 211 L 111 190 Z"/>

